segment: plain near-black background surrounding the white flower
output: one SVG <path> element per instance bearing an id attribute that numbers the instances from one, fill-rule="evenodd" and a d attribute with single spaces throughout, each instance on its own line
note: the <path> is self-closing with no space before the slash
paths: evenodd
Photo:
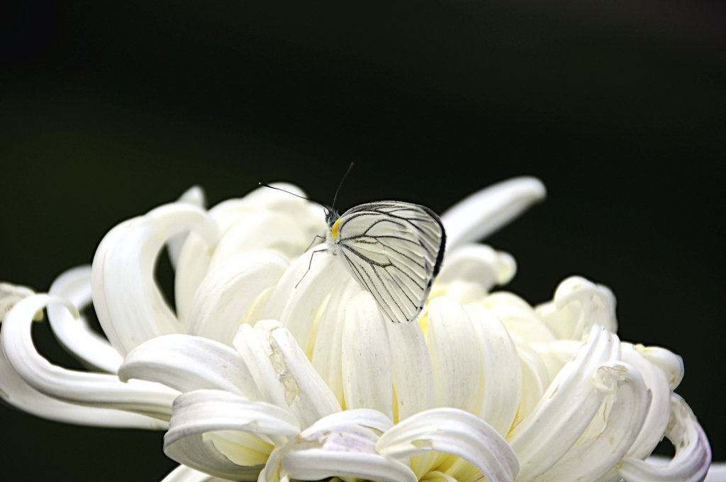
<path id="1" fill-rule="evenodd" d="M 111 3 L 111 2 L 105 2 Z M 443 211 L 510 176 L 548 199 L 487 240 L 531 303 L 583 274 L 624 340 L 685 360 L 726 459 L 726 25 L 705 1 L 33 2 L 0 32 L 0 279 L 46 290 L 102 235 L 192 184 L 289 180 L 340 208 Z M 54 361 L 47 327 L 36 339 Z M 70 366 L 70 365 L 69 365 Z M 0 407 L 7 481 L 156 481 L 162 433 Z"/>

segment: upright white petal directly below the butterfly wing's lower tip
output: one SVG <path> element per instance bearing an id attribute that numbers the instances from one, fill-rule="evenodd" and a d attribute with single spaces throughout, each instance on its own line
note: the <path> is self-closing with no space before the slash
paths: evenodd
<path id="1" fill-rule="evenodd" d="M 387 323 L 393 357 L 396 412 L 393 420 L 436 406 L 436 381 L 431 356 L 418 323 Z"/>

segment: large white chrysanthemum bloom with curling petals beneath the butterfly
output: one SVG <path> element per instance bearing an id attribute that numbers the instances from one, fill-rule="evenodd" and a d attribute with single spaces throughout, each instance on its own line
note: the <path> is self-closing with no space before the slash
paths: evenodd
<path id="1" fill-rule="evenodd" d="M 428 306 L 393 324 L 339 258 L 303 253 L 325 232 L 318 206 L 258 189 L 207 211 L 190 189 L 115 226 L 48 294 L 1 285 L 0 393 L 54 420 L 166 430 L 168 481 L 702 480 L 682 360 L 619 340 L 611 290 L 570 277 L 539 306 L 492 292 L 515 262 L 472 241 L 543 195 L 511 179 L 444 213 Z M 154 280 L 164 245 L 176 311 Z M 106 338 L 79 314 L 91 298 Z M 99 372 L 38 354 L 44 308 Z M 657 465 L 663 436 L 676 455 Z"/>

